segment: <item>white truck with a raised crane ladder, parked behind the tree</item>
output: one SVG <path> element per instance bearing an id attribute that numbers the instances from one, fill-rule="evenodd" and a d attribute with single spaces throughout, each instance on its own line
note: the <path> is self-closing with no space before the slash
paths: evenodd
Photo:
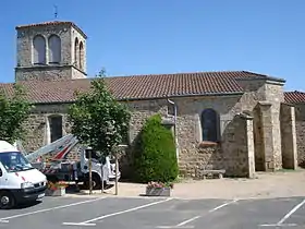
<path id="1" fill-rule="evenodd" d="M 101 189 L 102 185 L 105 189 L 110 189 L 114 185 L 115 174 L 118 180 L 121 177 L 112 158 L 107 156 L 105 161 L 99 161 L 97 152 L 80 144 L 73 134 L 64 135 L 33 153 L 26 153 L 21 142 L 16 142 L 15 145 L 32 166 L 41 171 L 50 182 L 64 181 L 77 185 L 83 184 L 84 189 L 89 189 L 89 156 L 91 158 L 93 190 Z M 69 158 L 73 150 L 80 158 Z M 51 157 L 44 161 L 42 158 L 47 155 Z M 115 169 L 118 169 L 117 172 Z"/>

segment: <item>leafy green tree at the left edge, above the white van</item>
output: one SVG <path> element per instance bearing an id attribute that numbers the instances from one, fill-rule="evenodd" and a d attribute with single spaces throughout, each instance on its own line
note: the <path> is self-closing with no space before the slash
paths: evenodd
<path id="1" fill-rule="evenodd" d="M 13 144 L 16 140 L 24 140 L 27 120 L 34 106 L 26 99 L 25 89 L 13 85 L 13 94 L 7 95 L 0 91 L 0 138 Z"/>

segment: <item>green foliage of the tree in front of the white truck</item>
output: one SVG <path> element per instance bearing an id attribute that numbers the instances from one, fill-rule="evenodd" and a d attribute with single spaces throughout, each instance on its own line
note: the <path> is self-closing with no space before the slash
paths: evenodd
<path id="1" fill-rule="evenodd" d="M 86 93 L 76 92 L 76 100 L 69 108 L 71 132 L 81 144 L 93 147 L 100 159 L 112 154 L 129 131 L 131 114 L 108 91 L 105 71 L 90 82 Z"/>

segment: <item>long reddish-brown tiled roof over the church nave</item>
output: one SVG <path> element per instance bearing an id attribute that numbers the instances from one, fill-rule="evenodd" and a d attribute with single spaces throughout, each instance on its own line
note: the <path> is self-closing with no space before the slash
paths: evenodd
<path id="1" fill-rule="evenodd" d="M 243 88 L 239 85 L 239 80 L 267 77 L 246 71 L 223 71 L 115 76 L 107 77 L 106 82 L 114 97 L 122 100 L 242 94 Z M 76 89 L 88 91 L 91 80 L 27 81 L 22 84 L 33 103 L 66 103 L 74 100 Z M 0 87 L 4 88 L 8 95 L 13 92 L 13 83 L 0 84 Z"/>

